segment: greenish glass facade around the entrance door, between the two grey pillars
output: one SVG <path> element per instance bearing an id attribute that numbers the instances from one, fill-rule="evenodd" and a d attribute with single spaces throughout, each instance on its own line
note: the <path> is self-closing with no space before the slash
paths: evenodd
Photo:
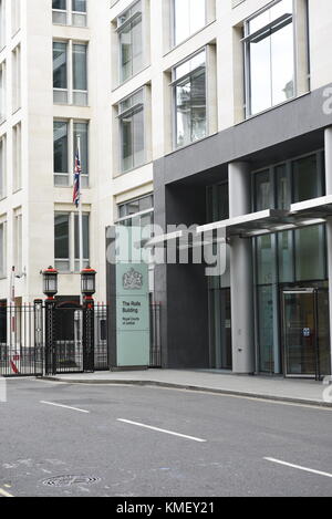
<path id="1" fill-rule="evenodd" d="M 323 153 L 318 152 L 299 159 L 288 160 L 284 164 L 271 166 L 268 169 L 253 174 L 253 211 L 263 209 L 288 210 L 291 204 L 318 198 L 325 194 L 324 187 L 324 162 Z M 301 374 L 301 370 L 312 371 L 314 359 L 312 352 L 312 341 L 304 341 L 301 335 L 284 336 L 284 326 L 292 326 L 293 312 L 302 315 L 301 309 L 292 308 L 286 311 L 283 292 L 287 289 L 303 290 L 311 288 L 317 290 L 318 297 L 328 284 L 326 266 L 326 236 L 325 226 L 317 225 L 297 230 L 283 231 L 271 235 L 263 235 L 253 239 L 255 250 L 255 277 L 256 277 L 256 300 L 257 300 L 257 340 L 259 350 L 259 371 L 263 373 L 283 373 L 290 370 L 290 375 Z M 304 292 L 305 294 L 305 292 Z M 321 297 L 321 299 L 323 299 Z M 302 301 L 305 298 L 290 298 L 290 301 Z M 322 303 L 323 304 L 323 303 Z M 286 312 L 286 313 L 284 313 Z M 300 312 L 300 313 L 299 313 Z M 310 323 L 309 313 L 303 313 L 303 323 Z M 305 319 L 304 319 L 305 318 Z M 308 318 L 308 319 L 307 319 Z M 321 320 L 323 316 L 321 318 Z M 287 320 L 287 323 L 284 323 Z M 325 320 L 329 326 L 329 320 Z M 303 324 L 300 330 L 313 328 L 312 324 Z M 321 328 L 323 329 L 322 324 Z M 300 333 L 299 332 L 299 333 Z M 326 335 L 326 334 L 325 334 Z M 298 339 L 297 339 L 298 338 Z M 321 339 L 320 339 L 321 338 Z M 297 342 L 297 345 L 287 346 L 286 339 Z M 305 339 L 305 338 L 304 338 Z M 321 332 L 318 335 L 322 349 L 325 351 L 326 338 Z M 303 357 L 295 365 L 295 353 L 291 353 L 291 347 L 297 347 L 301 352 L 301 344 L 308 343 L 308 359 Z M 309 347 L 311 344 L 311 350 Z M 287 349 L 292 361 L 284 357 Z M 324 359 L 326 354 L 323 354 Z M 302 357 L 301 357 L 302 359 Z M 292 367 L 290 367 L 290 365 Z M 297 367 L 298 366 L 298 367 Z M 307 366 L 307 367 L 305 367 Z M 328 366 L 328 367 L 326 367 Z M 322 373 L 329 373 L 329 364 L 322 361 L 320 367 Z M 297 371 L 298 370 L 298 371 Z M 292 372 L 293 371 L 293 372 Z M 297 372 L 297 373 L 295 373 Z M 314 375 L 314 370 L 311 375 Z"/>

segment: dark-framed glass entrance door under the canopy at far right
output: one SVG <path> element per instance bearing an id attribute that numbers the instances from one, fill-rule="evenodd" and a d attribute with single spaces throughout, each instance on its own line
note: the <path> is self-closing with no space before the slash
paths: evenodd
<path id="1" fill-rule="evenodd" d="M 319 376 L 317 290 L 283 292 L 287 376 Z"/>

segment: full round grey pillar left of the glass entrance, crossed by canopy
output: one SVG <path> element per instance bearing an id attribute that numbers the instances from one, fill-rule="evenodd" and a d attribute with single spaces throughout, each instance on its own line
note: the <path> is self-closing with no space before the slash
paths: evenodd
<path id="1" fill-rule="evenodd" d="M 229 165 L 230 218 L 251 212 L 250 169 L 247 163 Z M 234 373 L 255 372 L 255 312 L 251 240 L 232 238 L 230 290 Z"/>

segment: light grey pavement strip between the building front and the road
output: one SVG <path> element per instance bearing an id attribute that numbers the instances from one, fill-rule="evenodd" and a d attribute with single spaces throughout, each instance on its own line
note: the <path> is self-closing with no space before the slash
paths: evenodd
<path id="1" fill-rule="evenodd" d="M 125 384 L 221 393 L 332 407 L 332 387 L 312 380 L 234 375 L 201 370 L 97 372 L 46 377 L 71 384 Z M 326 392 L 330 394 L 326 398 Z M 329 402 L 326 402 L 326 399 Z"/>

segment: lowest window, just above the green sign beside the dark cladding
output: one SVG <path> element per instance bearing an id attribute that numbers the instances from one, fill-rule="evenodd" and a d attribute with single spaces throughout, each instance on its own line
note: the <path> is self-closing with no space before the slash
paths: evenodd
<path id="1" fill-rule="evenodd" d="M 147 195 L 142 198 L 120 204 L 117 222 L 126 227 L 144 227 L 154 222 L 154 196 Z"/>

